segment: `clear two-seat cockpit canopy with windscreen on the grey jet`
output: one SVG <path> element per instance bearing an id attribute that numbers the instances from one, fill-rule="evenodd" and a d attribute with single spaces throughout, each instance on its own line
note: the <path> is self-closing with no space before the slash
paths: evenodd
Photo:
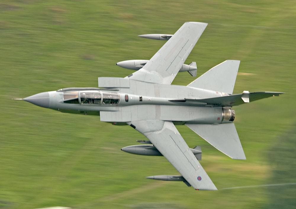
<path id="1" fill-rule="evenodd" d="M 83 105 L 113 105 L 119 102 L 119 94 L 97 90 L 65 92 L 64 102 Z"/>

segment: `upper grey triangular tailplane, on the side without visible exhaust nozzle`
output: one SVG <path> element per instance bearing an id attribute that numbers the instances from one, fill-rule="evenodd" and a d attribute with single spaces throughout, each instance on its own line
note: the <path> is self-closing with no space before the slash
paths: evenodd
<path id="1" fill-rule="evenodd" d="M 232 94 L 239 60 L 226 60 L 202 74 L 187 86 Z"/>

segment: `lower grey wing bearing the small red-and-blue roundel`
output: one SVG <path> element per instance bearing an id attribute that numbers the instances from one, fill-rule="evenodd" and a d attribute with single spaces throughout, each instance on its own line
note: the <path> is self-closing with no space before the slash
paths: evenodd
<path id="1" fill-rule="evenodd" d="M 132 125 L 152 142 L 194 189 L 217 190 L 173 122 L 137 121 Z"/>

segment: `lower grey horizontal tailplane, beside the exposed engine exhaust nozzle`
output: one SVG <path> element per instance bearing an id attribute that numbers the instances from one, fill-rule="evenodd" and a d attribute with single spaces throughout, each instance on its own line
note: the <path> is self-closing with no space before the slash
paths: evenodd
<path id="1" fill-rule="evenodd" d="M 186 124 L 186 126 L 230 158 L 246 159 L 234 123 Z"/>

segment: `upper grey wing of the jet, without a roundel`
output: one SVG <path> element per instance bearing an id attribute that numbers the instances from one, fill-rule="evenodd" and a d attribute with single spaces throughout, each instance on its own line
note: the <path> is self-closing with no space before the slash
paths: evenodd
<path id="1" fill-rule="evenodd" d="M 204 22 L 185 22 L 143 68 L 128 78 L 171 84 L 206 27 Z"/>

